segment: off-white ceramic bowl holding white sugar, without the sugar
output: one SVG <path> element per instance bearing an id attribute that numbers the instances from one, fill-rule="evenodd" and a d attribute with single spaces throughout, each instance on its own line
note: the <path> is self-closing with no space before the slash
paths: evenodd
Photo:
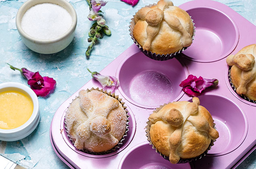
<path id="1" fill-rule="evenodd" d="M 69 12 L 72 18 L 72 25 L 65 34 L 55 39 L 45 40 L 31 37 L 23 31 L 23 29 L 21 28 L 21 19 L 25 12 L 32 6 L 42 3 L 57 4 L 66 9 L 67 12 Z M 65 47 L 67 47 L 73 40 L 73 37 L 75 35 L 76 23 L 76 11 L 73 8 L 73 6 L 69 4 L 69 2 L 67 2 L 66 0 L 28 0 L 19 8 L 16 16 L 16 27 L 19 32 L 19 35 L 21 35 L 22 41 L 29 49 L 40 54 L 54 54 L 65 49 Z"/>

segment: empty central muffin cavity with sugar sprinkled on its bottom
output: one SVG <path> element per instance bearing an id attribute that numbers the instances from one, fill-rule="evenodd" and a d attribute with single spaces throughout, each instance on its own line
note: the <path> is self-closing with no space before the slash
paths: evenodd
<path id="1" fill-rule="evenodd" d="M 117 70 L 120 93 L 130 103 L 144 108 L 180 99 L 184 93 L 178 85 L 187 76 L 185 66 L 175 58 L 161 62 L 142 52 L 127 57 Z"/>

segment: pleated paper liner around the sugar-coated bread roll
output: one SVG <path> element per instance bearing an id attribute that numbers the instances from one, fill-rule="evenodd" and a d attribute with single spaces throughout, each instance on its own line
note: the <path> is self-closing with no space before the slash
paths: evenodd
<path id="1" fill-rule="evenodd" d="M 128 111 L 126 110 L 127 107 L 124 105 L 125 103 L 122 101 L 122 99 L 120 99 L 120 98 L 118 97 L 118 95 L 115 95 L 115 93 L 111 93 L 111 91 L 110 91 L 110 92 L 103 91 L 103 89 L 99 89 L 99 88 L 96 88 L 96 89 L 94 89 L 94 88 L 92 88 L 92 89 L 86 89 L 87 92 L 90 92 L 90 91 L 93 91 L 93 90 L 97 90 L 97 91 L 103 92 L 103 93 L 105 93 L 105 94 L 107 94 L 107 95 L 109 95 L 109 96 L 111 96 L 111 97 L 113 97 L 113 98 L 115 98 L 115 99 L 118 99 L 118 101 L 122 104 L 124 110 L 126 111 L 126 116 L 127 116 L 126 131 L 124 132 L 123 138 L 118 142 L 118 144 L 117 144 L 116 146 L 114 146 L 114 147 L 111 148 L 110 150 L 107 150 L 107 151 L 105 151 L 105 152 L 100 152 L 100 153 L 91 152 L 91 151 L 86 150 L 86 149 L 78 149 L 78 150 L 80 150 L 80 151 L 82 151 L 82 152 L 84 152 L 84 153 L 90 154 L 90 155 L 106 155 L 106 154 L 109 154 L 109 153 L 113 153 L 115 150 L 117 150 L 118 148 L 120 148 L 120 146 L 123 144 L 122 142 L 125 140 L 125 137 L 127 136 L 127 132 L 129 131 L 129 122 L 130 122 L 130 120 L 128 120 L 128 118 L 129 118 L 130 116 L 128 115 Z M 78 96 L 77 96 L 75 99 L 77 99 L 77 98 L 78 98 Z M 75 100 L 75 99 L 73 99 L 73 100 Z M 73 102 L 73 100 L 72 100 L 72 102 Z M 71 102 L 71 103 L 72 103 L 72 102 Z M 70 103 L 70 104 L 71 104 L 71 103 Z M 70 105 L 70 104 L 69 104 L 69 105 Z M 69 140 L 71 140 L 72 144 L 75 144 L 75 142 L 72 140 L 72 138 L 71 138 L 69 132 L 67 131 L 66 119 L 64 120 L 64 123 L 65 123 L 65 129 L 66 129 L 65 132 L 67 132 L 67 136 L 69 137 Z"/>

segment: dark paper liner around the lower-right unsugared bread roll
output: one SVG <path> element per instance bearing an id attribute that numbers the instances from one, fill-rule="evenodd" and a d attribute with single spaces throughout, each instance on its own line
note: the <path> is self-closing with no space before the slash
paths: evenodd
<path id="1" fill-rule="evenodd" d="M 160 109 L 162 109 L 165 105 L 167 105 L 169 103 L 165 103 L 164 105 L 161 105 L 160 107 L 158 107 L 157 109 L 155 109 L 153 111 L 153 113 L 157 113 Z M 214 125 L 214 129 L 216 130 L 215 128 L 215 123 L 213 123 Z M 147 121 L 147 126 L 146 126 L 146 136 L 147 136 L 147 140 L 149 141 L 149 145 L 152 145 L 152 148 L 155 149 L 155 152 L 156 153 L 159 153 L 160 156 L 164 157 L 164 159 L 168 160 L 169 161 L 169 157 L 162 154 L 161 152 L 159 152 L 157 150 L 157 148 L 153 145 L 153 143 L 151 142 L 151 137 L 150 137 L 150 126 L 151 126 L 151 123 L 149 121 Z M 202 153 L 201 155 L 197 156 L 197 157 L 194 157 L 194 158 L 190 158 L 190 159 L 180 159 L 178 161 L 178 164 L 180 163 L 189 163 L 191 161 L 195 161 L 197 159 L 201 159 L 202 157 L 206 156 L 206 154 L 208 153 L 208 150 L 210 150 L 212 148 L 212 146 L 214 145 L 213 142 L 215 142 L 216 140 L 211 140 L 210 142 L 210 145 L 208 146 L 207 150 L 204 151 L 204 153 Z"/>

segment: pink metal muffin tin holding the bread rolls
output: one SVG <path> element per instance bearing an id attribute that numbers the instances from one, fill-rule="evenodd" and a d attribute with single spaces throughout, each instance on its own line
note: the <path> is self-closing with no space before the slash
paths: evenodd
<path id="1" fill-rule="evenodd" d="M 256 27 L 228 6 L 211 0 L 182 4 L 195 23 L 195 40 L 183 54 L 156 61 L 133 44 L 101 71 L 116 76 L 115 89 L 127 106 L 129 131 L 120 148 L 106 155 L 77 150 L 65 131 L 65 111 L 81 89 L 101 88 L 90 80 L 56 111 L 50 140 L 58 157 L 71 168 L 88 169 L 230 169 L 256 148 L 256 103 L 246 101 L 229 83 L 226 57 L 256 43 Z M 147 142 L 145 126 L 153 109 L 172 101 L 191 101 L 179 83 L 188 74 L 217 78 L 218 87 L 199 96 L 201 105 L 212 114 L 220 137 L 206 157 L 191 163 L 171 164 Z"/>

